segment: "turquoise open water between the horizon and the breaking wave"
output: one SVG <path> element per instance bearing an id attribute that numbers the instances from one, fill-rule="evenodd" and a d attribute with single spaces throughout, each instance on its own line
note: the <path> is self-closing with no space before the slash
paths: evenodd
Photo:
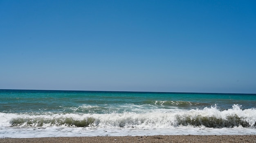
<path id="1" fill-rule="evenodd" d="M 234 104 L 243 109 L 256 106 L 255 94 L 220 93 L 155 93 L 110 91 L 43 91 L 0 90 L 2 113 L 123 113 L 133 111 L 124 105 L 148 106 L 148 108 L 193 109 L 217 105 L 220 110 Z M 91 110 L 82 106 L 98 106 Z M 76 108 L 76 110 L 74 110 Z M 143 110 L 141 110 L 143 112 Z"/>

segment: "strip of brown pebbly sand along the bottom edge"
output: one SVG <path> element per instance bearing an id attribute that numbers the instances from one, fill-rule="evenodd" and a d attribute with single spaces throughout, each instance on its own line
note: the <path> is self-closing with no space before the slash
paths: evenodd
<path id="1" fill-rule="evenodd" d="M 0 143 L 256 143 L 256 135 L 2 138 Z"/>

